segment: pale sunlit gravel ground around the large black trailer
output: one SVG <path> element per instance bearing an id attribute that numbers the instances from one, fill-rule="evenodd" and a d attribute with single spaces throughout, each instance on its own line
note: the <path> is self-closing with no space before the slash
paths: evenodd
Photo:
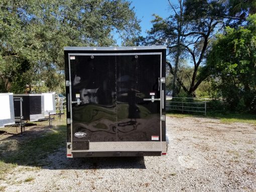
<path id="1" fill-rule="evenodd" d="M 166 120 L 166 156 L 67 159 L 60 149 L 45 167 L 17 166 L 0 186 L 26 192 L 256 191 L 255 126 L 210 118 Z"/>

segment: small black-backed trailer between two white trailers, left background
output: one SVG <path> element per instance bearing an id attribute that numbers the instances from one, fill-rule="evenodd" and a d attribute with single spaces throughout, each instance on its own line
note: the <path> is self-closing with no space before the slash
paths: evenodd
<path id="1" fill-rule="evenodd" d="M 15 117 L 23 120 L 38 121 L 44 119 L 44 95 L 42 94 L 14 94 Z M 19 100 L 22 99 L 22 103 Z M 22 113 L 21 113 L 22 109 Z"/>

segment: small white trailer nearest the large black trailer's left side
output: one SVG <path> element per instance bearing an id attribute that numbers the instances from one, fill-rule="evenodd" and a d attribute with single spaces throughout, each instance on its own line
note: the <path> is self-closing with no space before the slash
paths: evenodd
<path id="1" fill-rule="evenodd" d="M 44 115 L 56 114 L 55 93 L 42 93 L 44 96 Z"/>

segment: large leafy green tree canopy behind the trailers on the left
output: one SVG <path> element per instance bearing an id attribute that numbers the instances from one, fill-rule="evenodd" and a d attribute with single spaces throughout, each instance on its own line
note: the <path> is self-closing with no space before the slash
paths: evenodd
<path id="1" fill-rule="evenodd" d="M 0 91 L 22 93 L 42 81 L 63 89 L 64 46 L 132 44 L 140 32 L 124 0 L 45 0 L 0 3 Z M 37 88 L 35 88 L 37 89 Z"/>

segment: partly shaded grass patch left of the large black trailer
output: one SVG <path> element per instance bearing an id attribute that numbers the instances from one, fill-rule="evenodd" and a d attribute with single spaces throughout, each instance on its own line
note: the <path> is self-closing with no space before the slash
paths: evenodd
<path id="1" fill-rule="evenodd" d="M 42 124 L 42 122 L 38 122 Z M 47 124 L 48 122 L 43 122 Z M 11 136 L 0 142 L 15 142 L 15 146 L 2 147 L 0 150 L 0 179 L 5 179 L 5 174 L 10 172 L 17 165 L 33 165 L 36 168 L 46 165 L 44 159 L 55 150 L 66 145 L 66 119 L 53 122 L 47 132 L 31 136 L 25 135 L 22 139 L 17 136 Z M 26 168 L 25 168 L 26 169 Z M 30 181 L 32 178 L 27 178 Z M 34 178 L 33 178 L 34 179 Z M 25 181 L 26 181 L 25 180 Z"/>

